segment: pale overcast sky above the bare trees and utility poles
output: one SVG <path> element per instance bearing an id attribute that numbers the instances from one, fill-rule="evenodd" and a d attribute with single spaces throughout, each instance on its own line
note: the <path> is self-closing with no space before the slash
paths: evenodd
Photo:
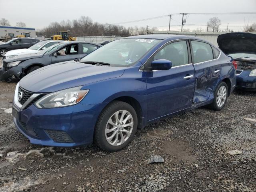
<path id="1" fill-rule="evenodd" d="M 213 12 L 256 12 L 256 0 L 0 0 L 0 18 L 6 18 L 12 26 L 22 21 L 27 27 L 36 29 L 48 26 L 50 22 L 78 19 L 89 16 L 94 22 L 118 23 L 167 14 L 213 13 Z M 188 15 L 187 24 L 206 25 L 209 18 L 221 19 L 220 29 L 242 30 L 247 24 L 256 22 L 256 15 Z M 171 20 L 171 30 L 180 30 L 182 16 Z M 122 24 L 128 26 L 158 27 L 168 29 L 169 18 L 158 18 L 143 22 Z M 159 27 L 161 26 L 161 27 Z M 164 27 L 162 27 L 164 26 Z M 238 26 L 238 27 L 235 27 Z M 184 28 L 205 29 L 206 26 L 185 25 Z"/>

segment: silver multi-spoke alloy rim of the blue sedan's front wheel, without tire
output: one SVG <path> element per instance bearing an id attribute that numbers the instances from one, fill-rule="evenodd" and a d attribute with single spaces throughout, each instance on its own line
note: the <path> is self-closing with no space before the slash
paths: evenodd
<path id="1" fill-rule="evenodd" d="M 132 114 L 126 110 L 119 110 L 112 114 L 106 124 L 106 140 L 112 146 L 124 144 L 132 134 L 132 129 Z"/>

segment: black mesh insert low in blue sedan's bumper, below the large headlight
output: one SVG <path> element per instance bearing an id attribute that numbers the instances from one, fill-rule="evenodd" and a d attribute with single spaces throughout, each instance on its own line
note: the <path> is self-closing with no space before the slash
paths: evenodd
<path id="1" fill-rule="evenodd" d="M 74 140 L 64 131 L 44 130 L 52 140 L 58 143 L 74 143 Z"/>

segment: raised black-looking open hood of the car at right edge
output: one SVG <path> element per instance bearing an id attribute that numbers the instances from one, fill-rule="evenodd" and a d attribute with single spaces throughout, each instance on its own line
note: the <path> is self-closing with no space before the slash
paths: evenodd
<path id="1" fill-rule="evenodd" d="M 226 33 L 217 38 L 219 48 L 225 54 L 252 53 L 256 54 L 256 34 Z"/>

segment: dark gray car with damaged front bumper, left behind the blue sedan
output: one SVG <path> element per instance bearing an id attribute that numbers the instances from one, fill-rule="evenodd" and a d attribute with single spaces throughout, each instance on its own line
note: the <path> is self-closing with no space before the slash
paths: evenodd
<path id="1" fill-rule="evenodd" d="M 14 58 L 3 59 L 3 67 L 0 68 L 0 81 L 10 82 L 19 80 L 26 74 L 43 66 L 78 60 L 102 45 L 85 41 L 67 41 L 54 44 L 38 53 L 23 54 Z"/>

